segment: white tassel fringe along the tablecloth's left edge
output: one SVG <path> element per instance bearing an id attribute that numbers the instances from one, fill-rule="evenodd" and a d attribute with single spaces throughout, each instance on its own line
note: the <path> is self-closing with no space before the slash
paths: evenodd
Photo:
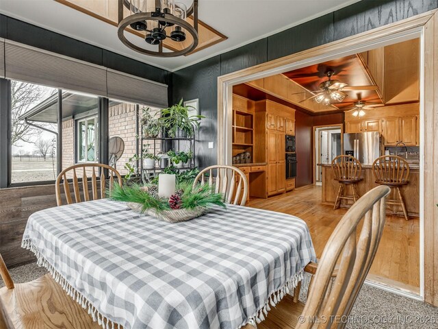
<path id="1" fill-rule="evenodd" d="M 25 239 L 21 241 L 21 247 L 30 250 L 36 256 L 36 264 L 38 266 L 42 266 L 49 271 L 53 280 L 61 285 L 62 289 L 66 291 L 66 293 L 73 298 L 80 306 L 82 306 L 85 310 L 88 310 L 88 314 L 91 315 L 93 321 L 97 321 L 99 326 L 102 326 L 103 329 L 122 329 L 123 326 L 117 324 L 116 322 L 108 319 L 94 307 L 94 305 L 87 300 L 85 296 L 83 296 L 79 291 L 72 287 L 70 283 L 58 272 L 53 266 L 47 261 L 46 258 L 40 253 L 38 248 L 32 243 L 31 239 Z"/>

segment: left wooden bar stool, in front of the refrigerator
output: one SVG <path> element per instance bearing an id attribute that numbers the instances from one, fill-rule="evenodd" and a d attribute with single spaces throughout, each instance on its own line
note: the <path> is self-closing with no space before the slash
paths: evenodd
<path id="1" fill-rule="evenodd" d="M 331 162 L 331 169 L 335 173 L 335 180 L 339 182 L 335 206 L 333 210 L 341 206 L 342 199 L 352 200 L 353 204 L 360 198 L 357 191 L 357 183 L 363 178 L 360 177 L 362 165 L 354 156 L 337 156 Z M 347 186 L 351 186 L 352 194 L 347 194 Z M 348 201 L 347 201 L 348 202 Z"/>

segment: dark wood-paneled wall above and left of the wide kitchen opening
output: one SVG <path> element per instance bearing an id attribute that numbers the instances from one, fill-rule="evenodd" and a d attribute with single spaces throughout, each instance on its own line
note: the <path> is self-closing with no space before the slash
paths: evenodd
<path id="1" fill-rule="evenodd" d="M 175 103 L 181 97 L 198 98 L 201 114 L 208 118 L 201 123 L 198 139 L 215 141 L 216 145 L 216 127 L 211 125 L 216 125 L 218 119 L 218 76 L 407 19 L 435 8 L 438 8 L 438 0 L 359 1 L 331 14 L 172 73 L 172 91 L 169 99 Z M 207 149 L 205 143 L 198 145 L 200 150 L 197 158 L 200 167 L 217 162 L 217 149 Z"/>

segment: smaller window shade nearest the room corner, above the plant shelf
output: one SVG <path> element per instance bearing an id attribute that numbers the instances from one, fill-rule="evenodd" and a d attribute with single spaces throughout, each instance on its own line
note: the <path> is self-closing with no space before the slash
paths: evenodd
<path id="1" fill-rule="evenodd" d="M 157 108 L 168 106 L 165 84 L 107 69 L 107 88 L 107 95 L 110 99 L 131 101 Z"/>

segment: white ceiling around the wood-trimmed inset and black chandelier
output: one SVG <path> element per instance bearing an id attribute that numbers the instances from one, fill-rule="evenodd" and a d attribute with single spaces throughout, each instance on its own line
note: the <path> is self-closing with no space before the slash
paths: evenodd
<path id="1" fill-rule="evenodd" d="M 0 12 L 129 58 L 176 71 L 357 1 L 199 0 L 199 19 L 228 36 L 228 40 L 177 58 L 154 58 L 132 51 L 118 40 L 116 27 L 53 0 L 0 0 Z"/>

